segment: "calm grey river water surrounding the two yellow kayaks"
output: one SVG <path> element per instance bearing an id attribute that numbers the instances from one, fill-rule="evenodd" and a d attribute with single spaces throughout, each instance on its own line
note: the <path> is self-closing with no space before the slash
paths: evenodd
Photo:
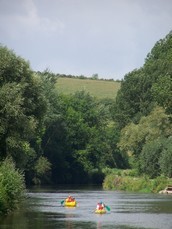
<path id="1" fill-rule="evenodd" d="M 76 208 L 62 207 L 68 195 Z M 94 213 L 97 202 L 111 208 L 104 215 Z M 29 189 L 25 207 L 0 219 L 3 229 L 171 229 L 172 195 L 103 191 L 90 188 Z"/>

